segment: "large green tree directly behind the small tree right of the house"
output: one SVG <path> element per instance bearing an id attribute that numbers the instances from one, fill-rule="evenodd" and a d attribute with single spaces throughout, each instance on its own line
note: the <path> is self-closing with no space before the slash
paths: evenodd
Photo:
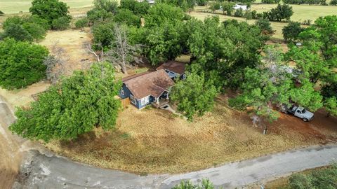
<path id="1" fill-rule="evenodd" d="M 206 18 L 204 22 L 186 22 L 186 48 L 191 59 L 216 79 L 217 87 L 238 87 L 246 66 L 260 64 L 260 49 L 265 36 L 256 25 L 227 20 L 219 25 L 219 18 Z M 207 74 L 209 76 L 209 74 Z"/>

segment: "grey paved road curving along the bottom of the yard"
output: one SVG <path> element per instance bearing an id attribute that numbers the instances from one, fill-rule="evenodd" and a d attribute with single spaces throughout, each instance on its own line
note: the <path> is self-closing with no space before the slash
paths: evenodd
<path id="1" fill-rule="evenodd" d="M 14 118 L 5 105 L 2 103 L 0 106 L 0 118 L 6 120 L 7 124 L 1 126 L 7 130 L 8 123 Z M 50 153 L 48 155 L 29 150 L 25 154 L 19 179 L 13 188 L 171 188 L 180 180 L 199 182 L 203 178 L 209 178 L 215 186 L 235 188 L 303 169 L 328 165 L 336 158 L 337 145 L 315 146 L 233 162 L 199 172 L 138 176 L 81 165 Z"/>

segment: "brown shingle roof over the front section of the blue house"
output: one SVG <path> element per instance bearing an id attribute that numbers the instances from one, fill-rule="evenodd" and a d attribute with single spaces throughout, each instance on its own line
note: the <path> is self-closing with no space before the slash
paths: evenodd
<path id="1" fill-rule="evenodd" d="M 163 69 L 128 76 L 122 81 L 136 99 L 142 99 L 149 95 L 157 98 L 174 85 L 173 80 Z"/>

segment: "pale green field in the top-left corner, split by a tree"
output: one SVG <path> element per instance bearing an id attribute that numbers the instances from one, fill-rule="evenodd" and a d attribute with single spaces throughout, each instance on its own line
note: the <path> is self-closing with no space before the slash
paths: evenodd
<path id="1" fill-rule="evenodd" d="M 83 8 L 92 6 L 93 0 L 60 0 L 68 4 L 70 8 Z M 0 0 L 0 10 L 6 14 L 28 12 L 32 0 Z"/>

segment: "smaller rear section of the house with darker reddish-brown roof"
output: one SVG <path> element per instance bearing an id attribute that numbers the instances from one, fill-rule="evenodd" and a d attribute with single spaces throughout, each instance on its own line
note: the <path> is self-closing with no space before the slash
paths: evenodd
<path id="1" fill-rule="evenodd" d="M 183 62 L 169 61 L 161 64 L 157 70 L 163 69 L 171 79 L 176 80 L 176 78 L 186 78 L 185 68 L 186 64 Z"/>

